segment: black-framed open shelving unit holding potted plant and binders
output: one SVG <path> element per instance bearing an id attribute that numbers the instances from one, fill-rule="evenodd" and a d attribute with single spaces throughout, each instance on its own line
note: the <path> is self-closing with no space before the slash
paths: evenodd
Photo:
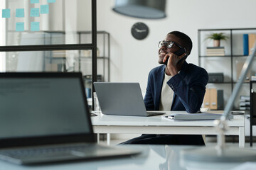
<path id="1" fill-rule="evenodd" d="M 220 47 L 224 47 L 222 55 L 207 55 L 207 48 L 213 47 L 213 41 L 207 40 L 210 33 L 224 33 L 227 40 L 220 40 Z M 247 55 L 244 55 L 244 34 L 256 34 L 256 28 L 225 28 L 225 29 L 200 29 L 198 30 L 198 64 L 206 69 L 209 74 L 223 74 L 223 81 L 211 81 L 207 88 L 223 90 L 224 106 L 230 97 L 235 83 L 239 79 L 242 65 Z M 255 75 L 256 64 L 252 63 L 248 79 L 242 84 L 240 94 L 236 99 L 233 109 L 244 109 L 240 107 L 240 96 L 250 96 L 250 75 Z"/>

